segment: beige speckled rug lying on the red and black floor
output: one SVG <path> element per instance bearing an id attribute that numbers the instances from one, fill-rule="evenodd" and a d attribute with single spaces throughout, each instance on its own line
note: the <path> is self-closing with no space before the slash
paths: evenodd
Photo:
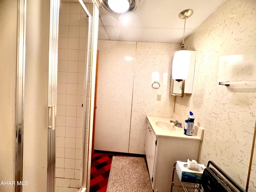
<path id="1" fill-rule="evenodd" d="M 113 156 L 107 192 L 135 191 L 152 192 L 144 158 Z"/>

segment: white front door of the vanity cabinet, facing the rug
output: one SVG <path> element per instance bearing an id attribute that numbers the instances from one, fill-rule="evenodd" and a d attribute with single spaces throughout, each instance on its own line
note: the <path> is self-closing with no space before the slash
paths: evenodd
<path id="1" fill-rule="evenodd" d="M 150 127 L 150 124 L 148 123 L 147 125 L 148 125 L 148 128 L 146 130 L 145 153 L 146 153 L 146 160 L 148 164 L 149 176 L 152 184 L 155 154 L 156 154 L 156 135 L 154 134 L 152 128 Z"/>

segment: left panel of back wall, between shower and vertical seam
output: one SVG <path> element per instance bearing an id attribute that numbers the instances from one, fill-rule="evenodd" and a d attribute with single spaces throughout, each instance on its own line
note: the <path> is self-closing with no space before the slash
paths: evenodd
<path id="1" fill-rule="evenodd" d="M 95 149 L 128 152 L 136 42 L 99 41 Z M 132 60 L 125 60 L 130 56 Z"/>

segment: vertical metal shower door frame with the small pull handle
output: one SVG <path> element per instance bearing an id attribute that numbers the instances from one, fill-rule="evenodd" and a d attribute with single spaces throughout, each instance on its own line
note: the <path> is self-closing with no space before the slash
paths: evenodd
<path id="1" fill-rule="evenodd" d="M 48 74 L 48 155 L 47 191 L 55 190 L 55 144 L 56 144 L 56 104 L 58 74 L 58 29 L 60 0 L 50 0 L 49 32 L 49 74 Z"/>

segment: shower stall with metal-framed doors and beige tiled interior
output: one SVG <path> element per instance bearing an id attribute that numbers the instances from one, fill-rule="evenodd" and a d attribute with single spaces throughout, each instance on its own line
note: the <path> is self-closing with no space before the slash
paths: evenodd
<path id="1" fill-rule="evenodd" d="M 0 178 L 15 185 L 0 186 L 0 191 L 85 191 L 90 182 L 97 3 L 11 2 L 4 6 L 16 10 L 12 15 L 17 22 L 16 68 L 8 72 L 16 70 L 15 78 L 9 76 L 16 91 L 3 94 L 16 98 L 14 109 L 7 113 L 15 117 L 14 131 L 6 135 L 15 143 L 8 156 L 13 166 L 6 167 L 14 174 Z"/>

